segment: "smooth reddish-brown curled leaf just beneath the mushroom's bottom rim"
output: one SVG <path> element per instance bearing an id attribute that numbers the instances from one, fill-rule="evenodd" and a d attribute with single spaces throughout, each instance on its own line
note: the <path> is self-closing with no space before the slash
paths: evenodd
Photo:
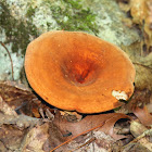
<path id="1" fill-rule="evenodd" d="M 60 128 L 63 136 L 72 134 L 73 137 L 103 124 L 101 130 L 118 140 L 124 138 L 125 136 L 115 135 L 113 131 L 113 127 L 114 124 L 121 118 L 130 119 L 130 117 L 125 114 L 111 113 L 88 115 L 80 122 L 69 123 L 65 118 L 62 118 L 61 115 L 56 114 L 53 123 Z M 67 139 L 71 137 L 67 137 Z"/>

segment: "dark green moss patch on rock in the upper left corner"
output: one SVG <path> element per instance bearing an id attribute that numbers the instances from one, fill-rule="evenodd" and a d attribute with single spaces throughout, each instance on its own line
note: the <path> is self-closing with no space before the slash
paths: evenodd
<path id="1" fill-rule="evenodd" d="M 30 36 L 37 37 L 37 28 L 31 24 L 31 21 L 26 23 L 14 18 L 11 15 L 9 5 L 5 1 L 0 2 L 0 33 L 4 29 L 7 39 L 3 43 L 12 42 L 12 52 L 17 52 L 22 49 L 22 53 L 25 53 L 26 47 L 30 41 Z M 31 14 L 28 11 L 28 16 Z"/>

